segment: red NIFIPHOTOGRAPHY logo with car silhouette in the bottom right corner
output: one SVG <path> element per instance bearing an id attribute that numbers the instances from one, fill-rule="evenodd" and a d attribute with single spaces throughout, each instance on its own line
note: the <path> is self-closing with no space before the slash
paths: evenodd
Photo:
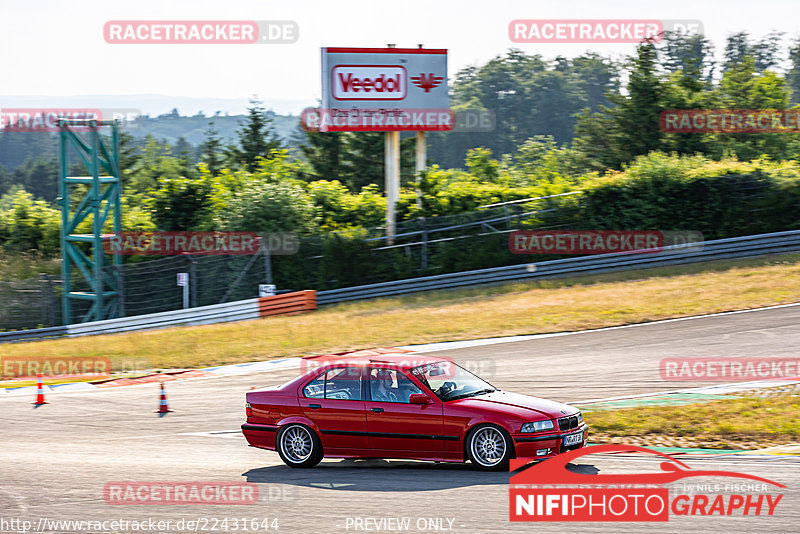
<path id="1" fill-rule="evenodd" d="M 660 456 L 661 472 L 587 474 L 566 468 L 580 456 L 640 452 Z M 530 461 L 512 461 L 513 470 Z M 742 478 L 753 482 L 703 484 L 699 492 L 678 491 L 670 498 L 667 484 L 692 477 Z M 771 516 L 783 498 L 783 484 L 731 471 L 692 469 L 666 454 L 633 445 L 597 445 L 576 449 L 514 475 L 509 488 L 511 521 L 669 521 L 676 516 Z M 705 489 L 705 491 L 703 491 Z M 721 490 L 725 492 L 721 492 Z M 673 488 L 674 490 L 674 488 Z M 758 492 L 758 493 L 754 493 Z"/>

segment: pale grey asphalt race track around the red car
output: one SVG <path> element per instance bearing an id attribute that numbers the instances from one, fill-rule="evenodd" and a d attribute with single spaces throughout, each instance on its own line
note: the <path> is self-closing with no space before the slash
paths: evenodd
<path id="1" fill-rule="evenodd" d="M 502 389 L 579 402 L 715 384 L 663 381 L 658 363 L 667 356 L 795 356 L 798 346 L 800 306 L 790 306 L 441 354 L 469 362 L 479 372 L 482 366 L 485 378 Z M 782 533 L 797 532 L 800 525 L 797 457 L 682 458 L 692 468 L 758 475 L 788 489 L 772 517 L 689 516 L 653 524 L 509 523 L 509 475 L 477 472 L 469 465 L 325 460 L 314 469 L 290 469 L 276 453 L 247 447 L 238 428 L 244 420 L 244 393 L 251 386 L 279 384 L 295 374 L 284 370 L 171 382 L 167 394 L 175 411 L 166 417 L 153 413 L 158 401 L 154 384 L 51 395 L 51 404 L 38 408 L 29 398 L 0 399 L 0 520 L 28 520 L 35 530 L 56 519 L 152 518 L 172 521 L 171 532 L 186 532 L 185 522 L 182 529 L 175 526 L 181 519 L 200 519 L 196 530 L 212 531 L 214 519 L 277 518 L 280 531 L 314 533 L 389 532 L 379 528 L 389 523 L 377 523 L 387 518 L 409 518 L 410 531 L 421 526 L 465 533 Z M 591 427 L 591 417 L 587 422 Z M 594 455 L 572 469 L 602 474 L 652 472 L 656 467 L 633 456 Z M 260 502 L 109 505 L 103 488 L 114 481 L 254 482 Z M 217 525 L 217 532 L 226 531 Z"/>

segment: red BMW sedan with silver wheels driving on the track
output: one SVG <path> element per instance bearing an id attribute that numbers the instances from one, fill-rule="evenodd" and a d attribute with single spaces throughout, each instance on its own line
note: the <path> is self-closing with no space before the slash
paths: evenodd
<path id="1" fill-rule="evenodd" d="M 415 355 L 354 357 L 247 393 L 248 443 L 290 467 L 329 458 L 465 462 L 505 470 L 586 445 L 567 404 L 501 391 L 455 363 Z"/>

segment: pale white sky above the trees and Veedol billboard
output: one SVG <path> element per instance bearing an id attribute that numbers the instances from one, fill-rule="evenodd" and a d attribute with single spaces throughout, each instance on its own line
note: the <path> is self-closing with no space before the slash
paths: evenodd
<path id="1" fill-rule="evenodd" d="M 617 18 L 699 19 L 718 55 L 725 38 L 741 30 L 800 36 L 800 0 L 0 0 L 0 107 L 12 96 L 245 101 L 258 95 L 282 108 L 276 111 L 299 112 L 320 97 L 323 46 L 447 48 L 452 77 L 511 47 L 546 58 L 588 50 L 630 54 L 633 44 L 515 44 L 508 37 L 513 19 Z M 300 37 L 263 45 L 109 44 L 103 38 L 109 20 L 237 19 L 292 20 Z M 182 114 L 197 111 L 180 102 Z"/>

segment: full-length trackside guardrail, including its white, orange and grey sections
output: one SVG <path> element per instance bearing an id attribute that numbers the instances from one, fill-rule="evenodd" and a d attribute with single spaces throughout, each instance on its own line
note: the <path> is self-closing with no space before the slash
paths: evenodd
<path id="1" fill-rule="evenodd" d="M 19 330 L 0 333 L 0 343 L 24 340 L 45 339 L 58 336 L 83 336 L 150 330 L 165 326 L 201 325 L 227 321 L 256 319 L 273 313 L 267 305 L 269 299 L 278 299 L 285 310 L 278 313 L 313 309 L 316 305 L 335 304 L 354 300 L 365 300 L 394 295 L 405 295 L 419 291 L 498 284 L 512 280 L 533 278 L 558 278 L 576 274 L 599 274 L 630 269 L 649 269 L 667 265 L 697 263 L 703 261 L 726 260 L 764 256 L 800 251 L 800 230 L 776 232 L 730 239 L 718 239 L 701 243 L 672 245 L 654 253 L 615 253 L 594 256 L 579 256 L 561 260 L 532 262 L 508 267 L 479 269 L 407 280 L 395 280 L 378 284 L 347 287 L 328 291 L 317 291 L 316 302 L 313 291 L 288 293 L 278 297 L 262 297 L 240 300 L 211 306 L 173 310 L 148 315 L 123 317 L 36 330 Z M 296 295 L 296 302 L 288 302 L 286 297 Z"/>

